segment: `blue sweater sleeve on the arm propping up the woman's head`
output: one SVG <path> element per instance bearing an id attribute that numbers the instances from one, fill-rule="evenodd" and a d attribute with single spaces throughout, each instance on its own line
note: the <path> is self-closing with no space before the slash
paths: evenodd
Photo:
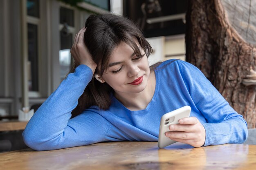
<path id="1" fill-rule="evenodd" d="M 34 150 L 54 150 L 105 141 L 109 123 L 97 113 L 99 110 L 86 109 L 81 115 L 70 119 L 91 79 L 92 70 L 80 65 L 61 82 L 23 131 L 27 146 Z"/>

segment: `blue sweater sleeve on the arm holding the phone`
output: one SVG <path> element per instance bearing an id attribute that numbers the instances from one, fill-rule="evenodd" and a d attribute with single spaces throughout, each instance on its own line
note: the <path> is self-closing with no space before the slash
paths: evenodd
<path id="1" fill-rule="evenodd" d="M 182 77 L 195 106 L 207 123 L 204 146 L 243 143 L 248 136 L 247 123 L 222 97 L 218 90 L 195 66 L 179 61 Z"/>

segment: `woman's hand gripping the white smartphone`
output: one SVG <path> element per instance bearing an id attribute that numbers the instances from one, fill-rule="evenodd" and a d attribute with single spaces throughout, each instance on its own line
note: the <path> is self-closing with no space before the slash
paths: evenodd
<path id="1" fill-rule="evenodd" d="M 166 137 L 189 144 L 194 147 L 201 147 L 205 142 L 204 126 L 196 117 L 188 117 L 179 120 L 179 124 L 169 126 L 170 131 L 166 132 Z"/>

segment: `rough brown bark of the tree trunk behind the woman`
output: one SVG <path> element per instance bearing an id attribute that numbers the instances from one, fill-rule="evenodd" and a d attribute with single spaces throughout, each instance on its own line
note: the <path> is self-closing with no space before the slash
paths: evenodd
<path id="1" fill-rule="evenodd" d="M 197 66 L 223 97 L 256 127 L 256 49 L 229 24 L 220 0 L 189 0 L 186 61 Z"/>

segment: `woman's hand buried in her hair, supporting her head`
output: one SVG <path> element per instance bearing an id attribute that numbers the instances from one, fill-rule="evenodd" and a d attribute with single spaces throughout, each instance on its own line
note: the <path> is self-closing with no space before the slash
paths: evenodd
<path id="1" fill-rule="evenodd" d="M 83 41 L 83 35 L 86 28 L 83 28 L 76 34 L 74 38 L 74 44 L 70 50 L 71 55 L 73 56 L 76 64 L 84 64 L 92 69 L 92 73 L 95 72 L 97 64 L 92 60 L 92 55 L 85 46 Z"/>

